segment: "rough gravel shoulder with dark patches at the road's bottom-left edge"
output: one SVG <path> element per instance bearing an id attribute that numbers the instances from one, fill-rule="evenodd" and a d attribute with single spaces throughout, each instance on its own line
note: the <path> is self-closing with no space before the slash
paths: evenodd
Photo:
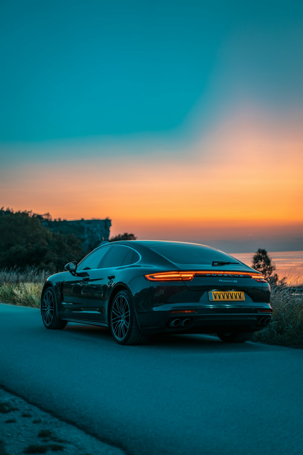
<path id="1" fill-rule="evenodd" d="M 1 455 L 124 455 L 125 452 L 0 389 Z"/>

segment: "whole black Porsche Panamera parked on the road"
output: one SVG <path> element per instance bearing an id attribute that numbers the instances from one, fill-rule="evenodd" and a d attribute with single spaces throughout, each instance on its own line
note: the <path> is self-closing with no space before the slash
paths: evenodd
<path id="1" fill-rule="evenodd" d="M 197 243 L 107 243 L 65 270 L 42 289 L 47 329 L 72 321 L 109 327 L 119 344 L 141 344 L 161 332 L 216 333 L 238 343 L 271 318 L 262 273 Z"/>

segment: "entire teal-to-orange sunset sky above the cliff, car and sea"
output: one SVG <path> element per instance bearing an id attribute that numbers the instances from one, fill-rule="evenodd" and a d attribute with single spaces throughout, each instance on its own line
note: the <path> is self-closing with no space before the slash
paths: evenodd
<path id="1" fill-rule="evenodd" d="M 0 205 L 302 249 L 301 1 L 3 1 Z"/>

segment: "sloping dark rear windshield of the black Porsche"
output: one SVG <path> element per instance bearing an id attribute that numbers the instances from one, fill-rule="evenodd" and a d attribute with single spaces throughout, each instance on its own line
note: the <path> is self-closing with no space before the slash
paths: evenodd
<path id="1" fill-rule="evenodd" d="M 210 247 L 197 245 L 158 245 L 151 247 L 153 251 L 176 264 L 205 264 L 211 265 L 213 261 L 239 262 L 222 251 Z"/>

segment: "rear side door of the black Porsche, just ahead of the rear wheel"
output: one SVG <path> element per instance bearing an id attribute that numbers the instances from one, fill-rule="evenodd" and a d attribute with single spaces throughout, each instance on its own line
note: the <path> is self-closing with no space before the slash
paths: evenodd
<path id="1" fill-rule="evenodd" d="M 133 255 L 131 248 L 125 245 L 113 245 L 98 270 L 89 280 L 88 286 L 88 319 L 100 323 L 107 322 L 107 304 L 110 292 L 119 281 L 121 265 L 127 265 Z"/>

